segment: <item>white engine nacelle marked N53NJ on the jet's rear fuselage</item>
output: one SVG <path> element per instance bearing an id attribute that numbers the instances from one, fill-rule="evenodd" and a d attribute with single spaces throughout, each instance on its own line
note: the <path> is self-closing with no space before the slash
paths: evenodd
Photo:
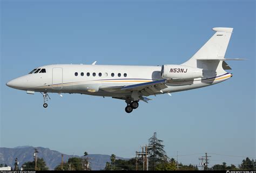
<path id="1" fill-rule="evenodd" d="M 183 65 L 162 65 L 161 76 L 164 79 L 202 78 L 203 69 Z"/>

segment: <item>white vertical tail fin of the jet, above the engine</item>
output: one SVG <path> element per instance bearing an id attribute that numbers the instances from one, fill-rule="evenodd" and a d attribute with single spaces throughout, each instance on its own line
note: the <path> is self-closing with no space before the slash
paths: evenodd
<path id="1" fill-rule="evenodd" d="M 214 27 L 216 33 L 201 47 L 196 54 L 181 65 L 203 68 L 204 70 L 216 71 L 222 68 L 228 42 L 233 31 L 231 27 Z"/>

